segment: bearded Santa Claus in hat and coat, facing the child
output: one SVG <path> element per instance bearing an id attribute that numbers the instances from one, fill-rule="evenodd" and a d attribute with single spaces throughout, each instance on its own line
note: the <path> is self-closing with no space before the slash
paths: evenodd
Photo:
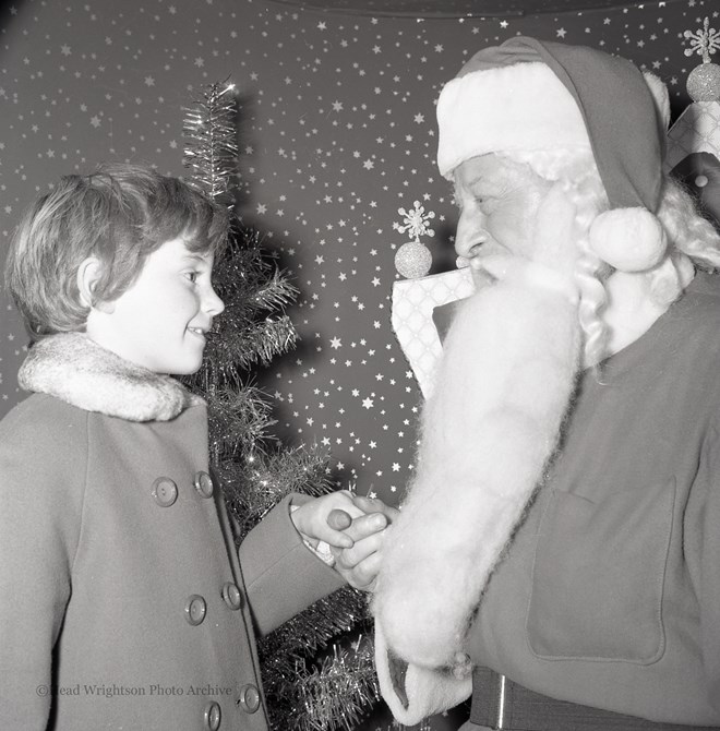
<path id="1" fill-rule="evenodd" d="M 374 598 L 395 717 L 720 727 L 720 237 L 662 172 L 664 85 L 518 37 L 437 103 L 476 293 Z M 670 724 L 670 726 L 668 726 Z"/>

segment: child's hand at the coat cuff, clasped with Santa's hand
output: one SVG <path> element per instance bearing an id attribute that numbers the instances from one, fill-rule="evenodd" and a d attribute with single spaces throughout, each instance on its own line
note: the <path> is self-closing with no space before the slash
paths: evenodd
<path id="1" fill-rule="evenodd" d="M 348 517 L 344 517 L 343 513 Z M 347 549 L 352 548 L 353 540 L 343 529 L 350 526 L 352 518 L 364 513 L 355 504 L 350 492 L 340 490 L 310 500 L 290 515 L 298 532 L 313 548 L 319 541 L 324 541 L 328 546 Z"/>

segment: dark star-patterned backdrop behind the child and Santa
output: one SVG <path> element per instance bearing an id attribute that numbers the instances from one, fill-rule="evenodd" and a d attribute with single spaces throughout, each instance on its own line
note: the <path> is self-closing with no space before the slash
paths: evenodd
<path id="1" fill-rule="evenodd" d="M 0 10 L 0 248 L 61 175 L 135 160 L 182 175 L 183 107 L 228 80 L 240 105 L 240 214 L 300 290 L 302 340 L 259 373 L 288 443 L 331 451 L 338 482 L 397 503 L 420 391 L 391 326 L 399 208 L 431 212 L 431 273 L 455 266 L 457 218 L 435 169 L 434 104 L 487 45 L 516 34 L 633 59 L 689 99 L 685 29 L 715 0 L 517 19 L 333 14 L 271 0 L 16 0 Z M 716 23 L 717 24 L 717 23 Z M 622 109 L 616 110 L 622 113 Z M 4 293 L 0 416 L 23 398 L 26 338 Z"/>

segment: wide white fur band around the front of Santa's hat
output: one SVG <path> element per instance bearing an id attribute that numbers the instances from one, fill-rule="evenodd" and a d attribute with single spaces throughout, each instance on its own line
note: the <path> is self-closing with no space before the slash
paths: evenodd
<path id="1" fill-rule="evenodd" d="M 590 149 L 583 116 L 544 63 L 516 63 L 453 79 L 437 99 L 441 175 L 471 157 L 557 147 Z"/>

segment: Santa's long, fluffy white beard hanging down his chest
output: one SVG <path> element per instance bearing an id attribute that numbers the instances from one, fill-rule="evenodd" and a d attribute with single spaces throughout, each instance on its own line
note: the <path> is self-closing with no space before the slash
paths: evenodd
<path id="1" fill-rule="evenodd" d="M 508 277 L 464 301 L 422 415 L 416 478 L 373 602 L 405 660 L 452 664 L 552 456 L 579 362 L 577 304 Z"/>

